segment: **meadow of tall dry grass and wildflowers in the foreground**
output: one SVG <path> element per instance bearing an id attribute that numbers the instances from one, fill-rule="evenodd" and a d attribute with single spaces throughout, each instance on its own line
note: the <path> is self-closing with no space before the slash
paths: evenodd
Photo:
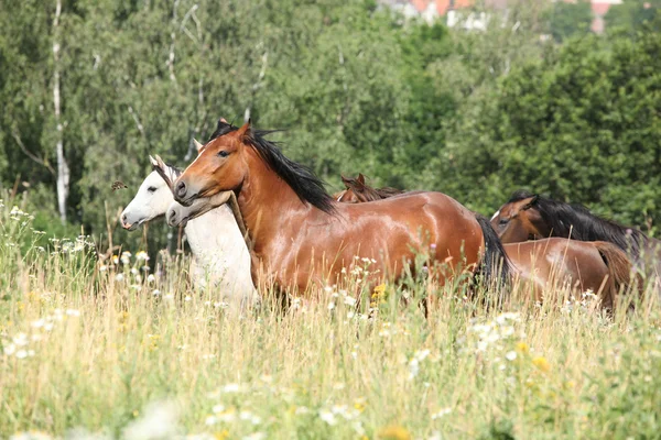
<path id="1" fill-rule="evenodd" d="M 154 276 L 143 252 L 48 241 L 0 205 L 0 438 L 661 436 L 651 285 L 613 317 L 590 293 L 497 310 L 447 287 L 425 319 L 393 286 L 371 314 L 327 287 L 241 316 L 194 294 L 182 262 Z"/>

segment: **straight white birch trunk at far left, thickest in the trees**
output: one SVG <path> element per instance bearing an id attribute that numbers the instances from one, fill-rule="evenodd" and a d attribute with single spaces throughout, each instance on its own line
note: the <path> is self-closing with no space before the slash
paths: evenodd
<path id="1" fill-rule="evenodd" d="M 59 102 L 59 15 L 62 14 L 62 0 L 55 1 L 55 18 L 53 19 L 53 107 L 57 127 L 57 209 L 59 210 L 59 219 L 64 223 L 66 222 L 66 199 L 69 190 L 69 168 L 64 156 L 64 127 L 61 120 Z"/>

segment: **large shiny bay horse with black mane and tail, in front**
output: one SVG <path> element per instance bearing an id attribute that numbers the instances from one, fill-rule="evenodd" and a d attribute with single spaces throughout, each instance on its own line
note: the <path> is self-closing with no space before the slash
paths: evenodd
<path id="1" fill-rule="evenodd" d="M 269 132 L 240 129 L 223 120 L 197 158 L 178 177 L 175 199 L 191 205 L 219 191 L 237 194 L 253 243 L 256 282 L 302 294 L 311 284 L 333 285 L 355 257 L 376 261 L 369 283 L 414 273 L 415 255 L 440 282 L 457 267 L 508 264 L 487 219 L 476 219 L 456 200 L 440 193 L 420 193 L 368 205 L 337 204 L 307 168 L 286 158 L 264 139 Z M 377 271 L 373 271 L 377 270 Z M 420 270 L 420 267 L 418 267 Z"/>

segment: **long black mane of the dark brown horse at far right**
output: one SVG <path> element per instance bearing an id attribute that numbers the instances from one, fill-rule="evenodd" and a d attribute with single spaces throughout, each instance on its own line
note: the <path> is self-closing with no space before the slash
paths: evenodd
<path id="1" fill-rule="evenodd" d="M 518 190 L 512 194 L 509 201 L 520 201 L 535 196 L 525 190 Z M 625 252 L 631 252 L 636 257 L 640 255 L 641 246 L 649 240 L 638 229 L 597 217 L 579 204 L 565 204 L 537 196 L 532 206 L 551 229 L 553 237 L 571 237 L 579 241 L 607 241 Z"/>

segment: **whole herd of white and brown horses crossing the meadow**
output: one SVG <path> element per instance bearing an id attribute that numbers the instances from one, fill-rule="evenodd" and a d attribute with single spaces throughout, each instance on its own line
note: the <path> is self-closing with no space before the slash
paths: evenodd
<path id="1" fill-rule="evenodd" d="M 343 177 L 346 189 L 330 196 L 269 133 L 220 119 L 183 172 L 150 156 L 153 172 L 120 215 L 122 227 L 160 216 L 183 226 L 195 284 L 210 282 L 241 306 L 260 292 L 337 286 L 360 266 L 364 289 L 421 271 L 443 286 L 468 272 L 500 293 L 527 286 L 538 300 L 559 283 L 593 290 L 611 309 L 640 274 L 661 270 L 659 241 L 527 191 L 490 221 L 444 194 L 372 188 L 362 175 Z"/>

